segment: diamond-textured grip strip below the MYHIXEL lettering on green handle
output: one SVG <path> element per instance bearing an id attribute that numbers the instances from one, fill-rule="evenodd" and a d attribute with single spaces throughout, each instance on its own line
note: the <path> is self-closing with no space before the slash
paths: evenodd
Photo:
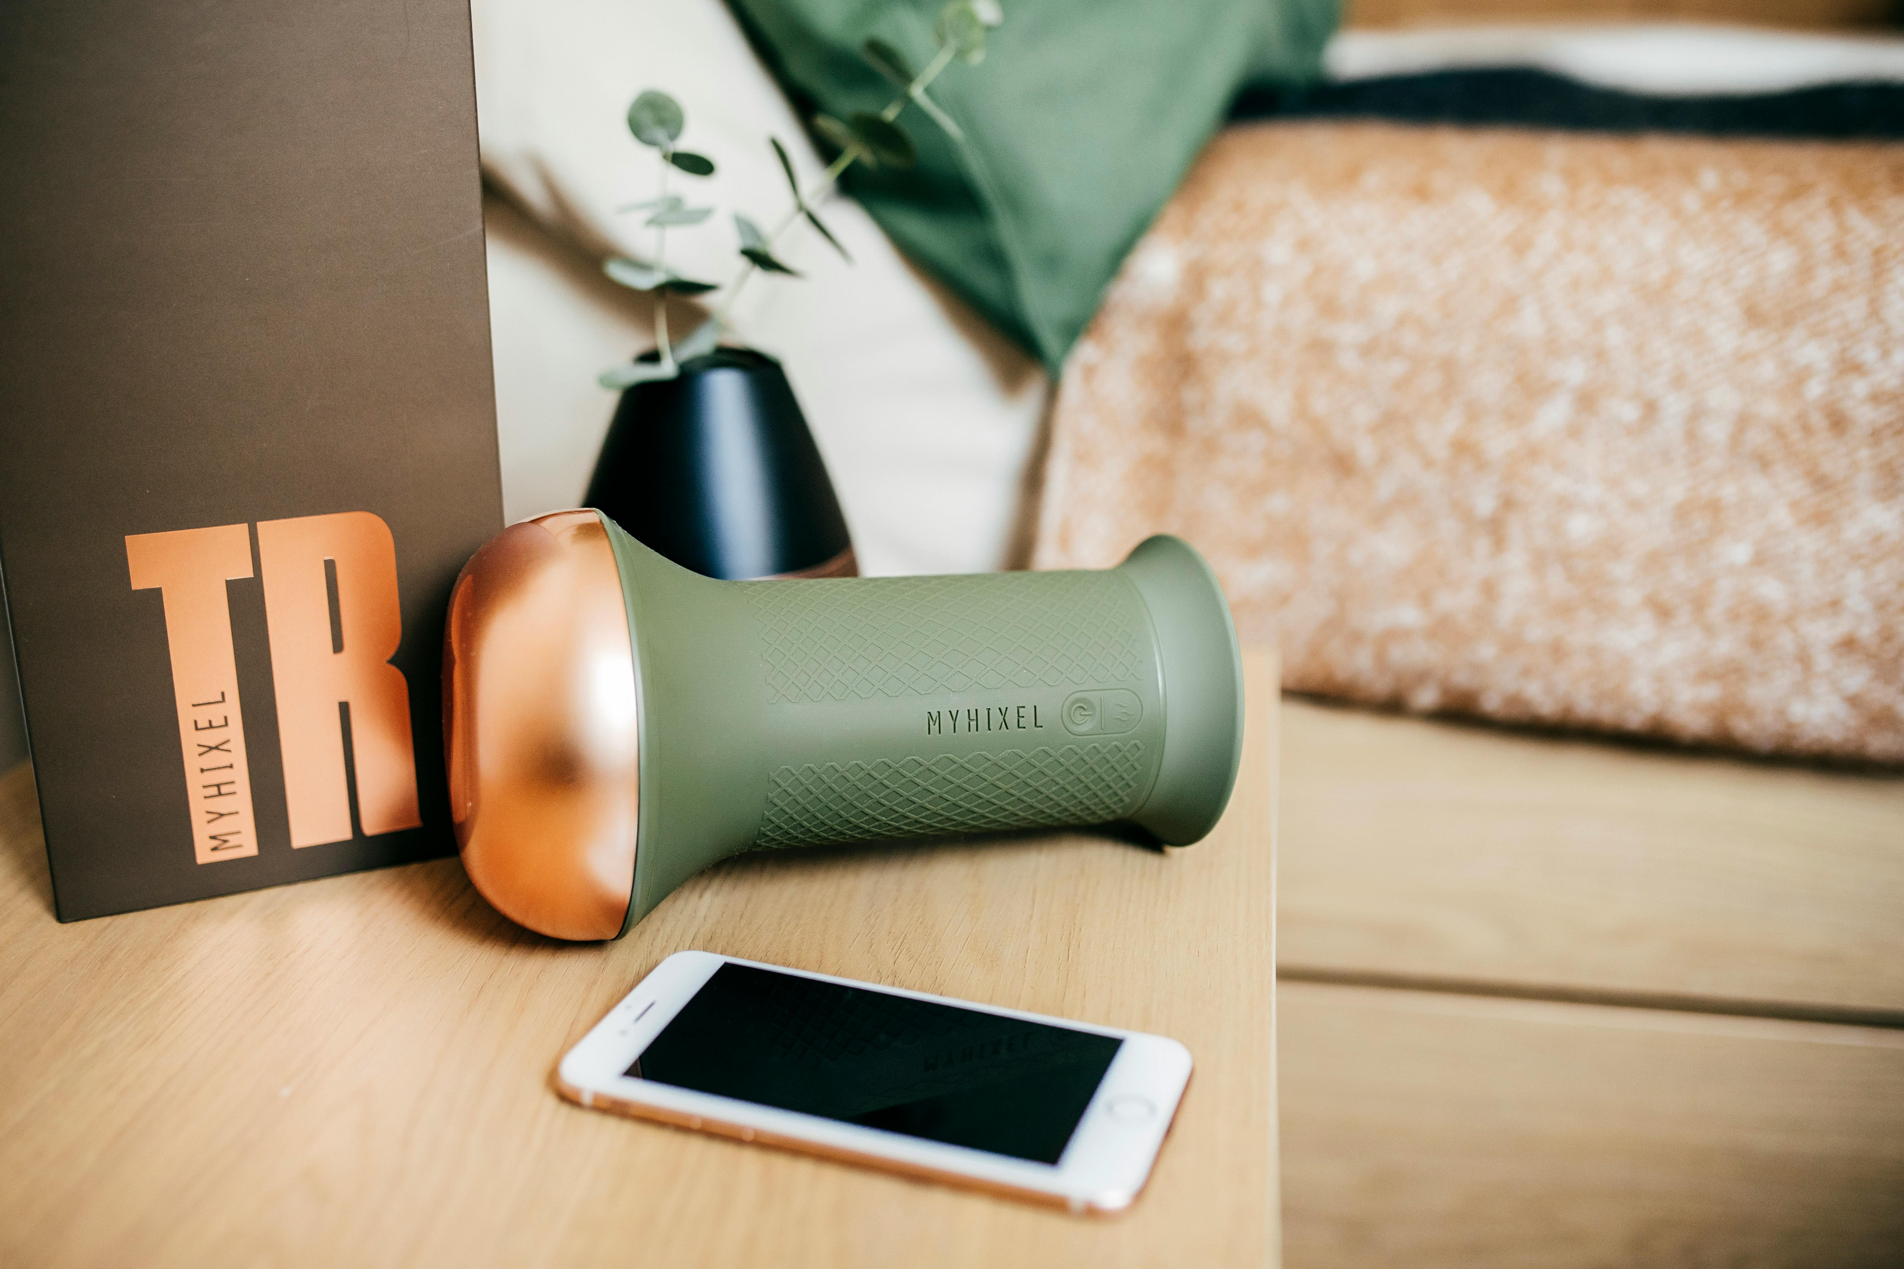
<path id="1" fill-rule="evenodd" d="M 1104 824 L 1146 771 L 1137 740 L 781 767 L 754 847 Z"/>

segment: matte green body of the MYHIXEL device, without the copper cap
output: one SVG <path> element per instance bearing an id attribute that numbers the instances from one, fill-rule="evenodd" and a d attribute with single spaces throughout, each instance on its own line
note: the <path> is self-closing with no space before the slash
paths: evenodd
<path id="1" fill-rule="evenodd" d="M 609 538 L 640 702 L 630 925 L 737 850 L 1125 818 L 1188 843 L 1228 799 L 1236 635 L 1177 538 L 1106 571 L 798 582 Z"/>

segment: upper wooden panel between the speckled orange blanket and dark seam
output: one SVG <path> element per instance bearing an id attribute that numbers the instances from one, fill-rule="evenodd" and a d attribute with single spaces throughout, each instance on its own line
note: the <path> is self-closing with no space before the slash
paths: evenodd
<path id="1" fill-rule="evenodd" d="M 1904 1020 L 1904 774 L 1289 700 L 1285 974 Z"/>

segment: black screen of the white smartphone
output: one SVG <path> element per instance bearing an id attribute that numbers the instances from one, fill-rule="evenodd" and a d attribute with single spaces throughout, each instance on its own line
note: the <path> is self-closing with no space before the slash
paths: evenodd
<path id="1" fill-rule="evenodd" d="M 1123 1041 L 722 965 L 628 1075 L 1057 1162 Z"/>

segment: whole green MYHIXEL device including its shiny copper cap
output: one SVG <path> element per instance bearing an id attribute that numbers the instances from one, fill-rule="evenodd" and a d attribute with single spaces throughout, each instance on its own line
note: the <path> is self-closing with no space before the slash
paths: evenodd
<path id="1" fill-rule="evenodd" d="M 1190 845 L 1241 696 L 1173 537 L 1102 571 L 722 582 L 556 512 L 476 552 L 444 637 L 463 866 L 571 940 L 741 850 L 1114 820 Z"/>

